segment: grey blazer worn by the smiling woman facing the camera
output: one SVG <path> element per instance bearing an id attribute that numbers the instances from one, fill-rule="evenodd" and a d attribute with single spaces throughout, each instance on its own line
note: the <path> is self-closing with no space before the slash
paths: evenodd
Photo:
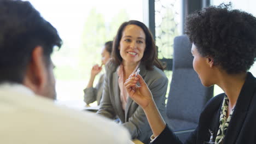
<path id="1" fill-rule="evenodd" d="M 104 82 L 104 90 L 100 109 L 97 113 L 112 119 L 117 116 L 120 119 L 120 123 L 129 130 L 132 139 L 138 139 L 144 143 L 148 143 L 152 131 L 143 109 L 130 97 L 127 100 L 125 111 L 122 109 L 117 67 L 118 65 L 112 62 L 109 62 L 106 67 L 107 73 Z M 139 74 L 143 77 L 152 92 L 160 113 L 165 117 L 165 95 L 168 85 L 168 79 L 165 73 L 155 66 L 153 70 L 146 70 L 146 67 L 142 64 L 139 65 L 139 68 L 141 69 Z"/>

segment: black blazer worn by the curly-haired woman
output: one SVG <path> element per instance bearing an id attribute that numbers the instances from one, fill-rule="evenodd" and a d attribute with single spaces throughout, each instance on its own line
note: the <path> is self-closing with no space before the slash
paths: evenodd
<path id="1" fill-rule="evenodd" d="M 208 129 L 213 131 L 215 141 L 224 95 L 224 93 L 219 94 L 208 101 L 200 115 L 198 127 L 185 143 L 202 144 L 204 141 L 209 141 Z M 182 142 L 166 126 L 153 143 Z M 256 79 L 249 72 L 238 96 L 223 143 L 256 143 Z"/>

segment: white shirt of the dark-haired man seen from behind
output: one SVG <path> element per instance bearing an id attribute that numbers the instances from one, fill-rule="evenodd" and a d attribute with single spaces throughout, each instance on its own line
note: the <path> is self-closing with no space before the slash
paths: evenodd
<path id="1" fill-rule="evenodd" d="M 30 89 L 0 85 L 0 143 L 130 143 L 128 131 L 106 118 L 55 105 Z"/>

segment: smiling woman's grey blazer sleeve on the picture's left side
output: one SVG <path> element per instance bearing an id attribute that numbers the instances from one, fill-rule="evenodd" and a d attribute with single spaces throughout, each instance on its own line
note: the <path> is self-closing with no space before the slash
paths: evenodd
<path id="1" fill-rule="evenodd" d="M 97 111 L 97 114 L 110 119 L 114 119 L 115 111 L 110 101 L 108 83 L 109 83 L 109 77 L 108 77 L 108 74 L 106 74 L 106 78 L 103 82 L 104 89 L 103 89 L 102 98 L 100 102 L 100 109 Z"/>

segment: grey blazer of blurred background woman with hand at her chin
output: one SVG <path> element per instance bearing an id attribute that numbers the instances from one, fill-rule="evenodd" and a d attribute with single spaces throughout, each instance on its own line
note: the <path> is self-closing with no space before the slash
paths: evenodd
<path id="1" fill-rule="evenodd" d="M 102 74 L 100 80 L 98 80 L 96 87 L 89 87 L 84 89 L 84 102 L 86 104 L 93 103 L 95 100 L 97 100 L 97 104 L 100 105 L 104 79 L 105 74 Z"/>

